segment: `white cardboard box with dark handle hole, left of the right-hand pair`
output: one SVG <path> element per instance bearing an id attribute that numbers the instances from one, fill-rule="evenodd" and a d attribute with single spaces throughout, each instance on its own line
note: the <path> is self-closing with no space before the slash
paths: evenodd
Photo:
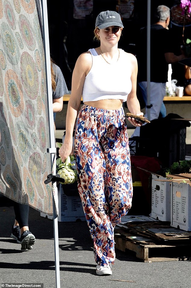
<path id="1" fill-rule="evenodd" d="M 151 217 L 161 221 L 171 221 L 171 181 L 152 174 Z"/>

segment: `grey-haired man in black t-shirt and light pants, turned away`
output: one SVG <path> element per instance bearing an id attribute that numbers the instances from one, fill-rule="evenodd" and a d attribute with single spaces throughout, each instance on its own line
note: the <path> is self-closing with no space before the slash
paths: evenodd
<path id="1" fill-rule="evenodd" d="M 151 25 L 150 32 L 150 119 L 157 119 L 166 92 L 168 81 L 168 64 L 176 63 L 185 58 L 183 54 L 176 56 L 173 53 L 173 40 L 168 25 L 170 22 L 170 8 L 160 5 L 156 10 L 156 23 Z M 140 90 L 147 105 L 147 28 L 141 28 L 137 45 L 138 76 Z M 148 117 L 148 108 L 145 108 L 145 117 Z M 133 136 L 139 136 L 137 127 Z"/>

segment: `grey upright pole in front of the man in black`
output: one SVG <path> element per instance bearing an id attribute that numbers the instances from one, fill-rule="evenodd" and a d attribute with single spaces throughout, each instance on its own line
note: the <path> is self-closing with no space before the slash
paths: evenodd
<path id="1" fill-rule="evenodd" d="M 151 0 L 147 0 L 147 108 L 148 108 L 148 119 L 151 118 L 150 111 L 150 85 L 151 85 Z"/>

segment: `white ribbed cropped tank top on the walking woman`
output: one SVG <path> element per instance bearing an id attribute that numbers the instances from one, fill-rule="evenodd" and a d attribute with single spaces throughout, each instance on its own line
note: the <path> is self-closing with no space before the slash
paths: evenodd
<path id="1" fill-rule="evenodd" d="M 130 61 L 125 57 L 124 50 L 119 50 L 119 59 L 112 64 L 100 57 L 94 48 L 88 50 L 92 54 L 92 67 L 84 81 L 83 102 L 102 99 L 127 101 L 132 89 Z"/>

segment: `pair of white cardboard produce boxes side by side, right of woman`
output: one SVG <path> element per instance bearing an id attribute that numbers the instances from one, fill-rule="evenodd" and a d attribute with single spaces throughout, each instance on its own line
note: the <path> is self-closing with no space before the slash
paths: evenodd
<path id="1" fill-rule="evenodd" d="M 162 177 L 152 174 L 151 216 L 171 226 L 191 231 L 191 174 Z"/>

